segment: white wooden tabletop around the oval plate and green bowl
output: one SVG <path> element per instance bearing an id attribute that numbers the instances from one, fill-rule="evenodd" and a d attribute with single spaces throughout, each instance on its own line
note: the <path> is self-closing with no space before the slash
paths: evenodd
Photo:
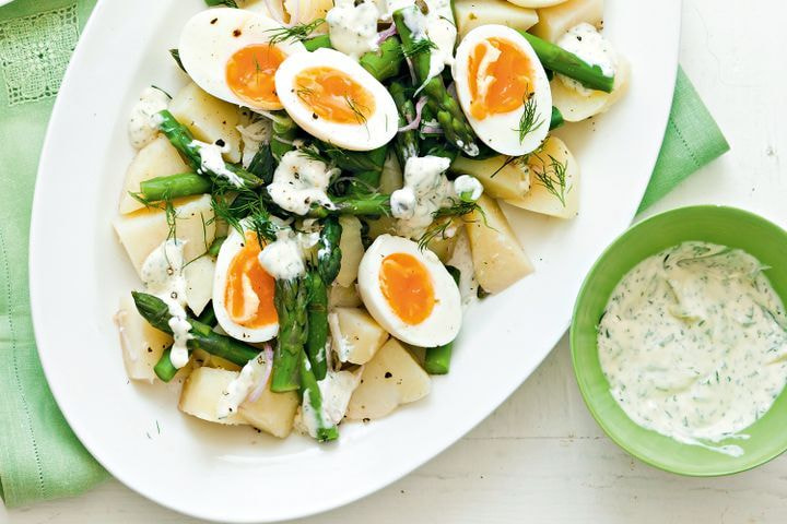
<path id="1" fill-rule="evenodd" d="M 780 0 L 684 0 L 681 62 L 732 151 L 650 213 L 725 203 L 787 226 L 780 160 L 787 154 L 785 14 Z M 80 498 L 10 511 L 7 519 L 17 524 L 193 522 L 115 480 Z M 787 455 L 753 472 L 712 479 L 682 478 L 633 460 L 588 415 L 564 338 L 502 407 L 448 451 L 376 495 L 303 522 L 339 520 L 784 523 Z"/>

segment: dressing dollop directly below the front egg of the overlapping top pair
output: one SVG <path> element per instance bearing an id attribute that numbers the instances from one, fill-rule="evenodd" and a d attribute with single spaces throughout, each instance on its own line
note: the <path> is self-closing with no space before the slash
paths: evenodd
<path id="1" fill-rule="evenodd" d="M 324 162 L 290 151 L 277 166 L 268 194 L 279 207 L 297 215 L 307 214 L 314 203 L 333 209 L 327 191 L 336 172 Z"/>

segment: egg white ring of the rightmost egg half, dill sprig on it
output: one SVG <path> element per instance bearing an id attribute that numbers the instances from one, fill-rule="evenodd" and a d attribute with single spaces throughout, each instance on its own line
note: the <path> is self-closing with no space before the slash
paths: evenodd
<path id="1" fill-rule="evenodd" d="M 470 53 L 480 43 L 493 37 L 510 41 L 521 49 L 530 60 L 533 75 L 531 80 L 536 103 L 536 122 L 540 121 L 541 123 L 521 142 L 519 141 L 519 121 L 525 111 L 524 106 L 507 114 L 488 116 L 483 120 L 473 118 L 470 112 L 470 103 L 472 102 L 468 79 Z M 496 24 L 482 25 L 470 31 L 457 48 L 451 72 L 456 82 L 459 104 L 473 131 L 488 146 L 504 155 L 521 156 L 536 150 L 547 138 L 552 118 L 552 93 L 549 79 L 547 79 L 547 73 L 532 46 L 518 32 Z"/>

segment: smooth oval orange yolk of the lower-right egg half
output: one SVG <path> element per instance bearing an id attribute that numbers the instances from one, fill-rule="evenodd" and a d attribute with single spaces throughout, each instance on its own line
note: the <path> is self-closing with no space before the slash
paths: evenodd
<path id="1" fill-rule="evenodd" d="M 408 253 L 383 259 L 379 272 L 383 296 L 397 317 L 410 325 L 426 320 L 435 306 L 432 278 L 420 260 Z"/>

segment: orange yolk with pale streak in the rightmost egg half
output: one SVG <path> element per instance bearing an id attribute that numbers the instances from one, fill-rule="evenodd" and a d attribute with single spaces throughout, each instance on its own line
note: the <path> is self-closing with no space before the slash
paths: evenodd
<path id="1" fill-rule="evenodd" d="M 489 38 L 475 46 L 468 75 L 470 114 L 478 120 L 518 109 L 532 93 L 530 59 L 503 38 Z"/>

